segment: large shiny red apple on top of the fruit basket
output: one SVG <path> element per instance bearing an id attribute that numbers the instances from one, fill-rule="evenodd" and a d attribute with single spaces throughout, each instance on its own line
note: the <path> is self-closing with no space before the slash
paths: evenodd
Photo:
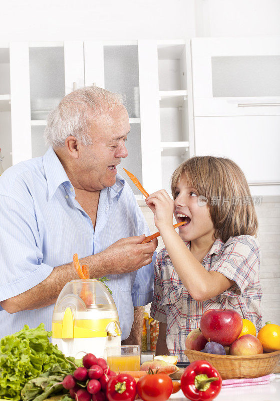
<path id="1" fill-rule="evenodd" d="M 241 316 L 230 309 L 209 309 L 200 320 L 204 337 L 223 346 L 232 344 L 241 333 L 242 327 Z"/>

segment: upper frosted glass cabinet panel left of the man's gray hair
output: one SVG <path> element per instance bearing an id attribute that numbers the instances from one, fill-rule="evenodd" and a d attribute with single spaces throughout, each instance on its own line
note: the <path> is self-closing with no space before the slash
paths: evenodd
<path id="1" fill-rule="evenodd" d="M 65 96 L 64 47 L 31 47 L 31 119 L 45 120 Z"/>

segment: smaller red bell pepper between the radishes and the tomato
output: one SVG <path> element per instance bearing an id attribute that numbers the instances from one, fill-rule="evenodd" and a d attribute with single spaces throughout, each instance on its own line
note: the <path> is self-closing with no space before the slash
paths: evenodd
<path id="1" fill-rule="evenodd" d="M 130 374 L 120 373 L 110 378 L 106 396 L 109 401 L 134 401 L 136 381 Z"/>

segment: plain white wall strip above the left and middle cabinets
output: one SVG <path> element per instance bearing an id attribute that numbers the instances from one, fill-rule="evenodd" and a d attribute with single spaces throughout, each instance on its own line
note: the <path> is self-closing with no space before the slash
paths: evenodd
<path id="1" fill-rule="evenodd" d="M 0 41 L 183 39 L 194 0 L 5 0 Z"/>

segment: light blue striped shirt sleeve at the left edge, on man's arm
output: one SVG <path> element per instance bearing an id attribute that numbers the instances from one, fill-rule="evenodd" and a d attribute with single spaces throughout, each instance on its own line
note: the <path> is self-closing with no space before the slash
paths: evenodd
<path id="1" fill-rule="evenodd" d="M 0 301 L 45 280 L 53 267 L 42 263 L 37 221 L 20 203 L 0 195 Z"/>

